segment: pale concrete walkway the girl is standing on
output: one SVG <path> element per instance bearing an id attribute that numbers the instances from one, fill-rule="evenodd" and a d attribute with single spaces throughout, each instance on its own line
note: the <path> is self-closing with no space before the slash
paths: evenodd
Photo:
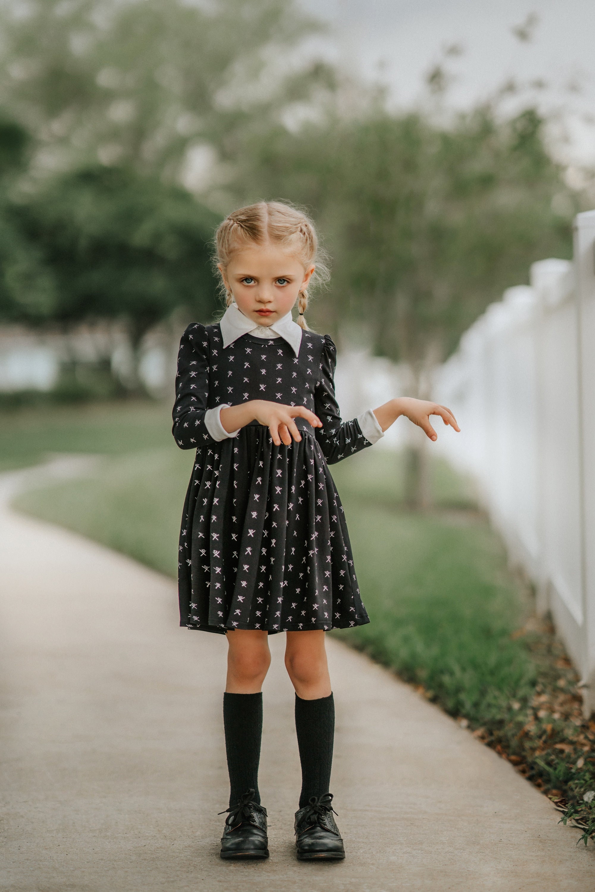
<path id="1" fill-rule="evenodd" d="M 19 483 L 5 475 L 4 495 Z M 6 499 L 4 499 L 4 502 Z M 332 789 L 348 857 L 293 855 L 299 761 L 282 635 L 260 768 L 266 863 L 221 862 L 226 643 L 173 582 L 0 510 L 0 759 L 10 892 L 565 892 L 595 887 L 545 797 L 439 709 L 329 640 Z"/>

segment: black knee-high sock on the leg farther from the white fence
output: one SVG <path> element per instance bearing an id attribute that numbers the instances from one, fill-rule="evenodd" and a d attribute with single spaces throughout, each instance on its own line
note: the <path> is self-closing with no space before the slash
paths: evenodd
<path id="1" fill-rule="evenodd" d="M 227 694 L 226 691 L 223 695 L 223 726 L 229 771 L 229 805 L 236 805 L 247 789 L 254 790 L 256 801 L 260 803 L 258 766 L 262 694 Z"/>

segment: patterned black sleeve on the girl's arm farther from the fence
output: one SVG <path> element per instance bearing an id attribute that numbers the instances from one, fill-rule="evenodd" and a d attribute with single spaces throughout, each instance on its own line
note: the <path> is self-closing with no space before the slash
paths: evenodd
<path id="1" fill-rule="evenodd" d="M 202 325 L 193 324 L 182 335 L 178 352 L 171 433 L 180 449 L 197 449 L 217 442 L 204 423 L 208 397 L 209 338 Z"/>

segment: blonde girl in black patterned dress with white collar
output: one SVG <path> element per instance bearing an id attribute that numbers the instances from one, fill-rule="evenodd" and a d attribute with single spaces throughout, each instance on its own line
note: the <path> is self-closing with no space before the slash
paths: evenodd
<path id="1" fill-rule="evenodd" d="M 411 399 L 341 421 L 335 344 L 304 318 L 308 285 L 324 268 L 302 212 L 280 202 L 241 208 L 221 223 L 216 244 L 227 311 L 182 336 L 173 434 L 196 450 L 179 545 L 180 624 L 227 635 L 231 790 L 221 857 L 269 857 L 260 691 L 268 636 L 285 632 L 302 763 L 297 857 L 343 859 L 329 792 L 335 704 L 325 633 L 369 620 L 327 465 L 371 446 L 401 415 L 431 440 L 430 415 L 459 427 L 444 406 Z"/>

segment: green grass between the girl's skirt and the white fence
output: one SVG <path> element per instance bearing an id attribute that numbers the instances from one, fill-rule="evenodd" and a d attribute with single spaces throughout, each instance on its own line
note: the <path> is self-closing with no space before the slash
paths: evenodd
<path id="1" fill-rule="evenodd" d="M 531 687 L 531 660 L 510 639 L 526 606 L 485 523 L 344 505 L 371 619 L 344 640 L 474 722 Z"/>

